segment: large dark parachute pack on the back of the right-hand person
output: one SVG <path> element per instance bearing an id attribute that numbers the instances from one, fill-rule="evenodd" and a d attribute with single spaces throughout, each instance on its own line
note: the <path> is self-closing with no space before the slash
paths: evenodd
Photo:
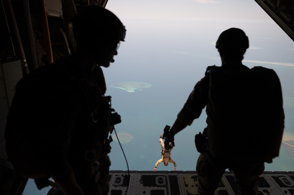
<path id="1" fill-rule="evenodd" d="M 284 129 L 279 78 L 272 69 L 210 67 L 207 137 L 209 151 L 226 161 L 271 162 Z"/>

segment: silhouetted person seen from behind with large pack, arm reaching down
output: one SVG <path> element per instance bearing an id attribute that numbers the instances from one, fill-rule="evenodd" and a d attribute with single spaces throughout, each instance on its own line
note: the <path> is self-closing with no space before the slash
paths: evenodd
<path id="1" fill-rule="evenodd" d="M 272 69 L 249 69 L 242 64 L 249 48 L 243 30 L 225 30 L 216 48 L 221 67 L 207 68 L 163 138 L 168 148 L 174 135 L 191 125 L 206 107 L 207 128 L 204 135 L 195 137 L 201 152 L 196 165 L 198 194 L 213 195 L 229 168 L 241 195 L 257 195 L 264 162 L 279 155 L 284 129 L 280 81 Z"/>

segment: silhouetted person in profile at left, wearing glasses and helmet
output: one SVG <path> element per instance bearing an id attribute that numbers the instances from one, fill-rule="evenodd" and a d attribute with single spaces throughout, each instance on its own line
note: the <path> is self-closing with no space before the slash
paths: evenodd
<path id="1" fill-rule="evenodd" d="M 76 15 L 77 52 L 36 69 L 16 86 L 6 150 L 26 178 L 52 177 L 66 195 L 108 194 L 113 110 L 102 67 L 114 62 L 125 28 L 107 9 Z"/>

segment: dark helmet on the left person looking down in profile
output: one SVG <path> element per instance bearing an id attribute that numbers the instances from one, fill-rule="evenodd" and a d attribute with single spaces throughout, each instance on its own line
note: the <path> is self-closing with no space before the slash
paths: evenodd
<path id="1" fill-rule="evenodd" d="M 124 41 L 125 26 L 111 11 L 100 6 L 86 6 L 73 19 L 73 31 L 78 43 L 85 48 L 108 50 Z"/>

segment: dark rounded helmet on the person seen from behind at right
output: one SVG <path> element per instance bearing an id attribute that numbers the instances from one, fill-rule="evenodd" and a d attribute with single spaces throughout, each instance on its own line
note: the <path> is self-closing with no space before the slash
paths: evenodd
<path id="1" fill-rule="evenodd" d="M 220 34 L 216 41 L 216 48 L 227 53 L 241 52 L 249 48 L 248 37 L 243 30 L 230 28 Z"/>

